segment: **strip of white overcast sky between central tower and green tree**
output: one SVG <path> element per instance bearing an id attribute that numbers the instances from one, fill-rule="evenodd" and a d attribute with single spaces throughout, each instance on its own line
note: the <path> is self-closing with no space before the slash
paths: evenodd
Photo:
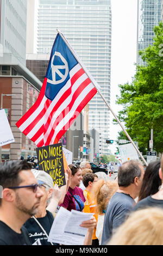
<path id="1" fill-rule="evenodd" d="M 135 75 L 137 40 L 137 0 L 112 0 L 112 50 L 111 50 L 111 102 L 110 107 L 117 115 L 121 107 L 115 104 L 120 95 L 118 84 L 131 82 Z M 110 113 L 110 139 L 117 139 L 121 126 L 113 125 Z M 116 145 L 110 146 L 112 153 Z M 116 152 L 116 151 L 115 151 Z"/>

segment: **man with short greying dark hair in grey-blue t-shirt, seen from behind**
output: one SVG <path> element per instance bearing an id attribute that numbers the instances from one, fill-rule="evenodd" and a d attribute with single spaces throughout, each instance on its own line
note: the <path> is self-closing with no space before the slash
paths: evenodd
<path id="1" fill-rule="evenodd" d="M 115 230 L 126 220 L 139 195 L 144 170 L 139 161 L 124 162 L 118 169 L 118 190 L 110 199 L 105 212 L 102 245 L 110 240 Z"/>

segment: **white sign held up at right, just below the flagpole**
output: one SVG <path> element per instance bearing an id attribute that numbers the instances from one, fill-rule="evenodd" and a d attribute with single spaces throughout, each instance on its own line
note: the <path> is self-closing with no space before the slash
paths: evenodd
<path id="1" fill-rule="evenodd" d="M 134 148 L 133 144 L 131 143 L 124 144 L 124 145 L 118 146 L 118 149 L 120 151 L 122 163 L 129 160 L 139 160 L 137 151 Z"/>

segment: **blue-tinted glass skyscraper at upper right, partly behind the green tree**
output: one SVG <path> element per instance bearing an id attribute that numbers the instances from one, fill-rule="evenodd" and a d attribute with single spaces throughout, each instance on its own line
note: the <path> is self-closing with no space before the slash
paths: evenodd
<path id="1" fill-rule="evenodd" d="M 139 51 L 153 45 L 153 27 L 161 21 L 161 0 L 138 0 L 137 15 L 137 64 L 145 63 Z"/>

